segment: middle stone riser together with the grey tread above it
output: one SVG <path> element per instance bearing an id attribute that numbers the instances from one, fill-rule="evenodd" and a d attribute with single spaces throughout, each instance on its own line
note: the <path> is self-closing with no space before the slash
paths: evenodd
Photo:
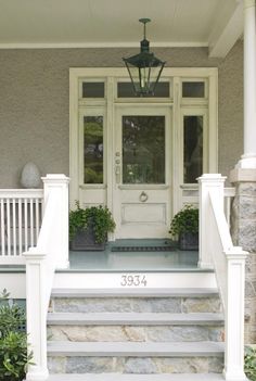
<path id="1" fill-rule="evenodd" d="M 222 341 L 221 314 L 49 314 L 51 341 Z"/>

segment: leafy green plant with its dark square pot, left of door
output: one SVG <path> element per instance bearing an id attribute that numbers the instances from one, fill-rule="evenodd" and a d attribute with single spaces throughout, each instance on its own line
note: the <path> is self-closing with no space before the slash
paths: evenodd
<path id="1" fill-rule="evenodd" d="M 115 229 L 115 221 L 106 206 L 81 208 L 69 212 L 69 247 L 74 251 L 104 250 L 107 233 Z"/>

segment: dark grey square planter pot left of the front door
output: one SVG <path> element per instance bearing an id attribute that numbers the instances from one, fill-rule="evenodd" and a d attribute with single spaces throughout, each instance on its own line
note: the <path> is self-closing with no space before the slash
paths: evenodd
<path id="1" fill-rule="evenodd" d="M 69 249 L 73 251 L 103 251 L 105 242 L 97 243 L 94 232 L 91 226 L 87 230 L 79 230 L 69 242 Z"/>

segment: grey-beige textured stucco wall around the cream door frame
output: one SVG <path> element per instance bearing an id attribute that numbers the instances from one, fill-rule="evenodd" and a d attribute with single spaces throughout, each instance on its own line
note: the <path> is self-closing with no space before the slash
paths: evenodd
<path id="1" fill-rule="evenodd" d="M 20 187 L 24 164 L 68 175 L 69 67 L 123 66 L 138 49 L 0 50 L 0 188 Z M 243 148 L 243 47 L 225 60 L 206 48 L 154 49 L 167 66 L 219 67 L 219 172 L 228 175 Z M 104 63 L 104 64 L 102 64 Z"/>

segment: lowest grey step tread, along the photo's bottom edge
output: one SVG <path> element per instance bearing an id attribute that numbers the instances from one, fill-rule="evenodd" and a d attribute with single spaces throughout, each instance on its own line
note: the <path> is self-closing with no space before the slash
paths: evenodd
<path id="1" fill-rule="evenodd" d="M 219 381 L 219 373 L 162 373 L 162 374 L 51 374 L 48 381 Z"/>

